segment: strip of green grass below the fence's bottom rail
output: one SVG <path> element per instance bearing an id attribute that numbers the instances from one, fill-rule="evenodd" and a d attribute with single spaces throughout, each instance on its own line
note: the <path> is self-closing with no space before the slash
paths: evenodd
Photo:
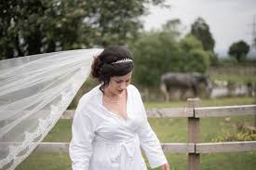
<path id="1" fill-rule="evenodd" d="M 171 170 L 186 170 L 186 154 L 166 153 Z M 201 154 L 202 170 L 255 170 L 256 152 Z M 146 161 L 148 169 L 148 162 Z M 71 161 L 67 153 L 32 153 L 16 170 L 70 170 Z M 155 168 L 154 170 L 160 170 Z"/>

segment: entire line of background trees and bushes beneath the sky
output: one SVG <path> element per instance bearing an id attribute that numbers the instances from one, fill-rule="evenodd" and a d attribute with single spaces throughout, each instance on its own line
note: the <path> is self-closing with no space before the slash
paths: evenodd
<path id="1" fill-rule="evenodd" d="M 0 3 L 0 59 L 53 51 L 128 46 L 134 55 L 136 84 L 156 86 L 164 72 L 201 72 L 220 66 L 206 20 L 198 18 L 188 33 L 181 20 L 144 32 L 141 16 L 165 0 L 25 0 Z M 231 62 L 245 62 L 249 46 L 229 48 Z"/>

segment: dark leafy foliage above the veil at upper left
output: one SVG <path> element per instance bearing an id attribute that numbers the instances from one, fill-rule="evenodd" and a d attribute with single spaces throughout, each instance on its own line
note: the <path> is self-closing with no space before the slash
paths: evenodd
<path id="1" fill-rule="evenodd" d="M 136 38 L 147 5 L 165 0 L 25 0 L 0 3 L 0 59 Z"/>

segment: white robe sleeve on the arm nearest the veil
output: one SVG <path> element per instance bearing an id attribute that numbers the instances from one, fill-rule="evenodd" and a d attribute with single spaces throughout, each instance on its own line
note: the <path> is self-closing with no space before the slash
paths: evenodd
<path id="1" fill-rule="evenodd" d="M 72 124 L 72 140 L 69 147 L 73 170 L 88 170 L 92 155 L 94 130 L 91 119 L 81 110 L 79 101 Z"/>

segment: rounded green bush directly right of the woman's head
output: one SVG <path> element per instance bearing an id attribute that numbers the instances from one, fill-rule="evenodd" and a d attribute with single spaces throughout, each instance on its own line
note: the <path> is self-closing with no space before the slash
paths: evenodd
<path id="1" fill-rule="evenodd" d="M 131 49 L 134 53 L 136 83 L 158 85 L 160 75 L 179 71 L 179 48 L 170 33 L 142 33 Z M 178 62 L 177 62 L 178 61 Z"/>

